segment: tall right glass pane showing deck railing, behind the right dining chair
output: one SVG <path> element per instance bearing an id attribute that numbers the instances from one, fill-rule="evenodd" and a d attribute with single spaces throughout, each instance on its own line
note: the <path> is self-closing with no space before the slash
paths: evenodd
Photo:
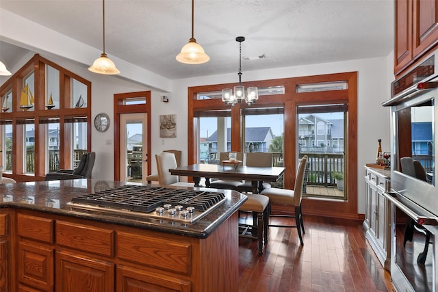
<path id="1" fill-rule="evenodd" d="M 346 199 L 345 115 L 339 107 L 298 107 L 298 157 L 308 157 L 305 196 Z"/>

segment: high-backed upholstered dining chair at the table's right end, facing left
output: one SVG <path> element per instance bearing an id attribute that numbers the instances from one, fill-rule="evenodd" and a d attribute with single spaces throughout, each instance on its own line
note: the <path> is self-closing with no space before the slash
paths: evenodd
<path id="1" fill-rule="evenodd" d="M 298 170 L 296 171 L 295 177 L 295 187 L 294 189 L 279 189 L 276 187 L 270 187 L 268 189 L 263 189 L 261 195 L 267 196 L 269 198 L 269 216 L 270 217 L 294 217 L 295 225 L 279 225 L 279 224 L 269 224 L 272 227 L 291 227 L 296 228 L 298 231 L 298 237 L 300 238 L 301 245 L 304 245 L 302 241 L 302 234 L 305 234 L 304 224 L 302 223 L 302 211 L 301 211 L 301 200 L 302 200 L 302 185 L 304 182 L 305 170 L 307 165 L 307 155 L 300 159 L 298 164 Z M 280 204 L 283 206 L 294 206 L 294 215 L 276 215 L 272 214 L 272 204 Z M 302 233 L 302 234 L 301 234 Z"/>

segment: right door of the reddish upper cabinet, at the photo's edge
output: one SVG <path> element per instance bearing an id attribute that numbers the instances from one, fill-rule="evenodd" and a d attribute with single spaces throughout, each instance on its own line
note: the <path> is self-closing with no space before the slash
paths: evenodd
<path id="1" fill-rule="evenodd" d="M 413 57 L 416 59 L 438 42 L 438 0 L 413 1 Z"/>

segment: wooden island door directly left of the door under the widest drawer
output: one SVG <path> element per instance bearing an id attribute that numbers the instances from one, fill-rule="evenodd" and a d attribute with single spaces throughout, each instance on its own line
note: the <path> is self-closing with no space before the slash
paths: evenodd
<path id="1" fill-rule="evenodd" d="M 70 252 L 56 252 L 56 291 L 112 292 L 114 264 Z"/>

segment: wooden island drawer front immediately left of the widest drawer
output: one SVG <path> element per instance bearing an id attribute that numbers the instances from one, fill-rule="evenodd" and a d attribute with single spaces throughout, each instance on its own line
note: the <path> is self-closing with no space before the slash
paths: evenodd
<path id="1" fill-rule="evenodd" d="M 56 243 L 93 254 L 111 257 L 114 255 L 112 230 L 57 221 Z"/>

